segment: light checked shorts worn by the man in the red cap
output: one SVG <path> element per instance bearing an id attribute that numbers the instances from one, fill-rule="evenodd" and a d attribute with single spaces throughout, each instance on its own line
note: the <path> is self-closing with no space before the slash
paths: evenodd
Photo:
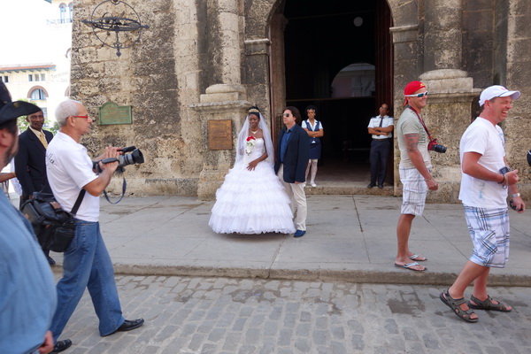
<path id="1" fill-rule="evenodd" d="M 415 167 L 398 167 L 398 172 L 400 173 L 400 181 L 404 186 L 400 213 L 422 215 L 427 194 L 427 185 L 424 177 Z"/>

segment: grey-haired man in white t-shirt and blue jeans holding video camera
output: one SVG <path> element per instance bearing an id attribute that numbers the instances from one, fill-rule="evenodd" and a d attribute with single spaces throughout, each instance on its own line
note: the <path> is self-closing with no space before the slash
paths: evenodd
<path id="1" fill-rule="evenodd" d="M 56 119 L 60 130 L 46 150 L 47 174 L 53 194 L 62 208 L 70 211 L 81 189 L 88 193 L 82 196 L 75 214 L 75 235 L 65 250 L 63 277 L 57 285 L 58 309 L 50 328 L 54 341 L 63 332 L 85 288 L 89 289 L 99 319 L 100 335 L 135 329 L 142 326 L 143 319 L 127 320 L 122 316 L 112 261 L 98 222 L 99 196 L 119 166 L 119 149 L 105 148 L 97 159 L 115 160 L 98 162 L 101 173 L 96 174 L 87 149 L 80 144 L 81 136 L 89 133 L 92 123 L 87 109 L 81 102 L 66 100 L 58 105 Z M 67 347 L 72 344 L 69 340 L 60 342 L 66 342 Z"/>

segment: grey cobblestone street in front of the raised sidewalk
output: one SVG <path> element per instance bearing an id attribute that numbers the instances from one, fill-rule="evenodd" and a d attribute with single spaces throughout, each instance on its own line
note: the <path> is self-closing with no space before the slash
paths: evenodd
<path id="1" fill-rule="evenodd" d="M 529 288 L 494 288 L 509 313 L 458 319 L 428 286 L 118 276 L 127 319 L 101 338 L 86 292 L 60 339 L 67 354 L 528 353 Z M 470 295 L 471 289 L 466 294 Z"/>

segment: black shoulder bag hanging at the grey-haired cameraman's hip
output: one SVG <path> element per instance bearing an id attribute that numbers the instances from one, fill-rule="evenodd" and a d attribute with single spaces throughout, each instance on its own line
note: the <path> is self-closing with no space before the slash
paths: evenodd
<path id="1" fill-rule="evenodd" d="M 71 212 L 65 212 L 49 193 L 35 192 L 33 198 L 22 204 L 20 211 L 33 226 L 42 250 L 64 252 L 68 248 L 75 235 L 73 216 L 80 208 L 83 196 L 85 189 L 81 189 Z"/>

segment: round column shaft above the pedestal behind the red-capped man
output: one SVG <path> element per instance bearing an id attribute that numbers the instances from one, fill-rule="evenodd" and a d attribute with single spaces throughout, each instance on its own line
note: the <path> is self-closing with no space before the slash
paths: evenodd
<path id="1" fill-rule="evenodd" d="M 461 67 L 462 0 L 426 0 L 424 72 Z"/>

